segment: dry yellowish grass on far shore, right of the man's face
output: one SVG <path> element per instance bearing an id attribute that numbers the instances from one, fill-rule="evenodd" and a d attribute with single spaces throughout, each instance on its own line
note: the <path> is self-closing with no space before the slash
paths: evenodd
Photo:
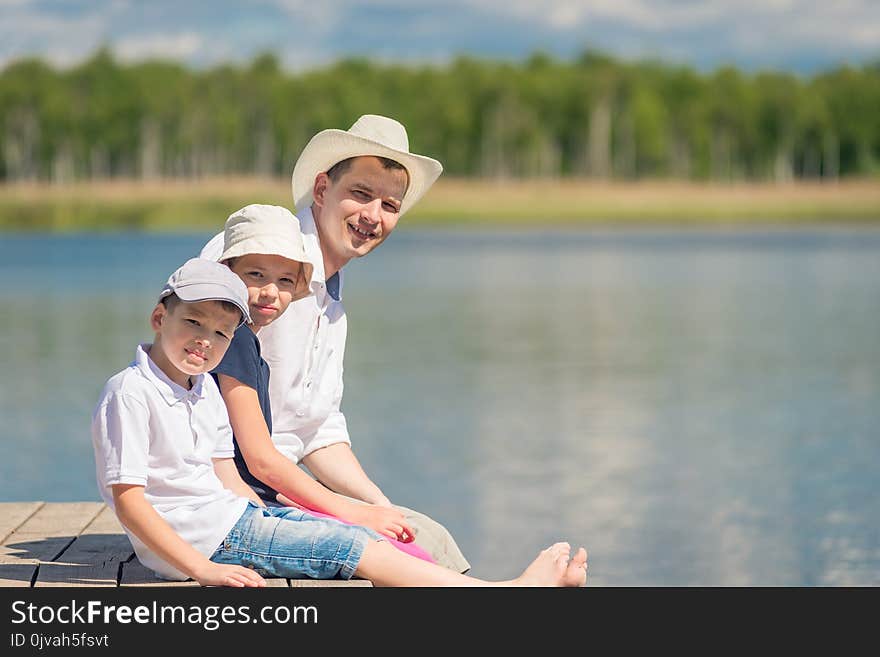
<path id="1" fill-rule="evenodd" d="M 447 181 L 422 213 L 556 223 L 880 221 L 880 180 L 784 185 L 679 181 Z"/>

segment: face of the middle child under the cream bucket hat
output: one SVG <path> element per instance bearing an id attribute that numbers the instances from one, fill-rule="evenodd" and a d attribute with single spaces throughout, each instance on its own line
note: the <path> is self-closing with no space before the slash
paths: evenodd
<path id="1" fill-rule="evenodd" d="M 302 263 L 296 260 L 250 253 L 236 258 L 231 269 L 248 289 L 248 310 L 255 329 L 271 324 L 291 301 L 309 294 Z"/>

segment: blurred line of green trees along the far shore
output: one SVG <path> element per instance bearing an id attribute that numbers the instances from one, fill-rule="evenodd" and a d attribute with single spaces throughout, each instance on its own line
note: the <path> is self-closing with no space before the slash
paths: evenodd
<path id="1" fill-rule="evenodd" d="M 880 171 L 880 61 L 811 77 L 571 61 L 363 58 L 301 73 L 270 53 L 193 70 L 106 49 L 0 72 L 0 180 L 290 174 L 308 139 L 386 114 L 449 175 L 826 179 Z"/>

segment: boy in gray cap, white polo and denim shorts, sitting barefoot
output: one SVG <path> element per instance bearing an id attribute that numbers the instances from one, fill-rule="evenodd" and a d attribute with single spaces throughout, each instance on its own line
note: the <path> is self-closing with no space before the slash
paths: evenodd
<path id="1" fill-rule="evenodd" d="M 556 543 L 512 580 L 487 582 L 392 547 L 378 532 L 297 507 L 267 508 L 233 464 L 223 398 L 207 373 L 251 323 L 248 288 L 194 258 L 150 314 L 152 343 L 111 377 L 92 416 L 101 497 L 135 554 L 167 579 L 265 586 L 264 576 L 361 577 L 379 586 L 581 586 L 586 552 Z"/>

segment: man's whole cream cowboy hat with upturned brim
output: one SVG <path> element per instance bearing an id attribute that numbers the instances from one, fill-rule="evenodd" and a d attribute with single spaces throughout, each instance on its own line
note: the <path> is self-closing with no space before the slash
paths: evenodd
<path id="1" fill-rule="evenodd" d="M 312 204 L 315 177 L 337 162 L 360 155 L 387 157 L 409 174 L 409 186 L 400 203 L 403 215 L 434 184 L 443 165 L 425 155 L 409 152 L 406 128 L 394 119 L 364 114 L 348 130 L 322 130 L 309 140 L 293 167 L 291 187 L 297 209 Z"/>

